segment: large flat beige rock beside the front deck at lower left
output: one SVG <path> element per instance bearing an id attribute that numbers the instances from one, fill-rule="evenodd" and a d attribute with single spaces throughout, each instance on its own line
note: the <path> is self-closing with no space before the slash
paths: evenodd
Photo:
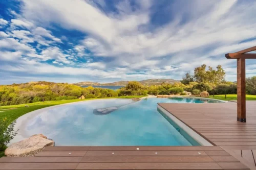
<path id="1" fill-rule="evenodd" d="M 12 143 L 5 150 L 6 156 L 35 156 L 45 147 L 54 146 L 54 141 L 47 139 L 43 134 L 32 135 L 22 141 Z"/>

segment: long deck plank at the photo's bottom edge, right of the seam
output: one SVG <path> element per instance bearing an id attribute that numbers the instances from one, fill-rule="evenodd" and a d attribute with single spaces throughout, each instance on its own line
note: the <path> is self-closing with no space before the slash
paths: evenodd
<path id="1" fill-rule="evenodd" d="M 136 163 L 131 163 L 131 162 L 102 163 L 101 162 L 101 163 L 79 163 L 76 169 L 222 169 L 222 168 L 216 162 L 168 162 L 168 163 L 167 162 L 136 162 Z"/>

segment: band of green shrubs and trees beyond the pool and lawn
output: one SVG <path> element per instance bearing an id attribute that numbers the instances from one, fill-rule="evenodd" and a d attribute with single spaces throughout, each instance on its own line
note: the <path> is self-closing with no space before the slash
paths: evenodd
<path id="1" fill-rule="evenodd" d="M 90 98 L 109 98 L 127 95 L 158 95 L 158 94 L 186 94 L 184 91 L 199 95 L 202 91 L 209 94 L 237 94 L 236 82 L 225 80 L 225 71 L 221 65 L 216 69 L 205 64 L 194 69 L 194 74 L 185 74 L 180 82 L 173 84 L 143 86 L 139 82 L 131 81 L 118 90 L 80 87 L 68 83 L 37 82 L 0 86 L 0 106 L 17 105 L 34 102 L 70 100 L 83 96 Z M 246 79 L 247 94 L 256 94 L 256 76 Z"/>

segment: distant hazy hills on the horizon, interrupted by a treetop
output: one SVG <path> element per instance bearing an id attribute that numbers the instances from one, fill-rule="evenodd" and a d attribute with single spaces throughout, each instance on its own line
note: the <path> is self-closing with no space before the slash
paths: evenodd
<path id="1" fill-rule="evenodd" d="M 113 83 L 97 83 L 97 82 L 79 82 L 74 83 L 78 86 L 126 86 L 129 81 L 118 81 Z M 147 79 L 147 80 L 141 80 L 139 81 L 143 85 L 160 85 L 162 83 L 175 83 L 179 82 L 178 80 L 174 79 Z"/>

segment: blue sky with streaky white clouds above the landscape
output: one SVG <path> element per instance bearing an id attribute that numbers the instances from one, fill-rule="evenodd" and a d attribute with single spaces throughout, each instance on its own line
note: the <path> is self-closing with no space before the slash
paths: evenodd
<path id="1" fill-rule="evenodd" d="M 0 84 L 181 79 L 256 45 L 255 1 L 0 1 Z M 246 76 L 256 61 L 246 61 Z"/>

